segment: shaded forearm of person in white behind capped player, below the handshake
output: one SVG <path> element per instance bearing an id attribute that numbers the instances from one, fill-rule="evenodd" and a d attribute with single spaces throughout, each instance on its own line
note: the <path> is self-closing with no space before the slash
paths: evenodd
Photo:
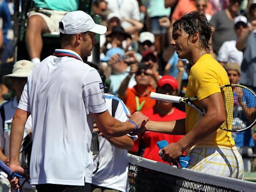
<path id="1" fill-rule="evenodd" d="M 117 148 L 131 150 L 133 147 L 133 140 L 128 135 L 119 137 L 105 137 L 112 145 Z"/>

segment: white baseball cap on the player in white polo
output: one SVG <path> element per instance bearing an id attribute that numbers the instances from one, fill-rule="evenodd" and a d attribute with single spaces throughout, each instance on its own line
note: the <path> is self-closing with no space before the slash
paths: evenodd
<path id="1" fill-rule="evenodd" d="M 63 34 L 77 34 L 91 31 L 98 34 L 106 32 L 106 26 L 96 24 L 91 16 L 82 10 L 66 13 L 58 23 L 59 32 Z"/>

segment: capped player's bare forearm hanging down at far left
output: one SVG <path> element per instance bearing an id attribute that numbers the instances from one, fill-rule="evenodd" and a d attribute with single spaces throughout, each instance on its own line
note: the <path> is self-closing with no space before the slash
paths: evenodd
<path id="1" fill-rule="evenodd" d="M 19 151 L 23 139 L 25 122 L 26 118 L 24 116 L 14 114 L 10 130 L 10 164 L 19 165 Z"/>

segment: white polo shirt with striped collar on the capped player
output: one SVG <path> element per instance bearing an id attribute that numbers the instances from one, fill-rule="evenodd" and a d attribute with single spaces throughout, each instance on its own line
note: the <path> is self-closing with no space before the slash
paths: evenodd
<path id="1" fill-rule="evenodd" d="M 18 104 L 32 116 L 30 184 L 90 182 L 85 161 L 91 159 L 91 113 L 106 110 L 102 85 L 98 72 L 66 49 L 31 71 Z"/>

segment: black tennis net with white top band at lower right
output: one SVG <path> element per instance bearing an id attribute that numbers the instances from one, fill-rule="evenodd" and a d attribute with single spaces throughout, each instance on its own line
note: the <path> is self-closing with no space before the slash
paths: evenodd
<path id="1" fill-rule="evenodd" d="M 256 183 L 177 168 L 128 154 L 129 191 L 256 191 Z"/>

